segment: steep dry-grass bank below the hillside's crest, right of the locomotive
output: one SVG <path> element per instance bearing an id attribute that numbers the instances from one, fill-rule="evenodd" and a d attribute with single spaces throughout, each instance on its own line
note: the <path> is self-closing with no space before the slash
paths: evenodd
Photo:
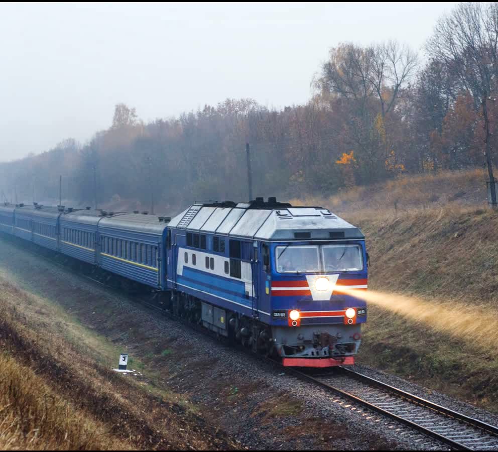
<path id="1" fill-rule="evenodd" d="M 388 303 L 370 306 L 360 361 L 496 409 L 498 213 L 448 208 L 358 224 L 368 241 L 369 288 L 386 292 Z M 444 306 L 434 320 L 448 329 L 413 311 L 396 312 L 399 295 Z M 471 324 L 453 327 L 466 314 Z M 490 331 L 492 341 L 477 340 L 474 329 Z"/>

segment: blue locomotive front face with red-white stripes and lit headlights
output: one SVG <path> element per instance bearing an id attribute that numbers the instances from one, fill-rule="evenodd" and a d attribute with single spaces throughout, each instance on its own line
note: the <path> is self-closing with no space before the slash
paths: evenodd
<path id="1" fill-rule="evenodd" d="M 364 240 L 272 244 L 272 336 L 284 365 L 353 364 L 367 287 Z M 270 286 L 270 283 L 268 284 Z"/>

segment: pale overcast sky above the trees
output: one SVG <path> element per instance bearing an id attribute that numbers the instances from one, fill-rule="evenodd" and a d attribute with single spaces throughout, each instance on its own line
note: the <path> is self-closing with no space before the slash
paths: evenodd
<path id="1" fill-rule="evenodd" d="M 339 42 L 421 49 L 455 3 L 0 4 L 0 161 L 227 97 L 281 108 Z"/>

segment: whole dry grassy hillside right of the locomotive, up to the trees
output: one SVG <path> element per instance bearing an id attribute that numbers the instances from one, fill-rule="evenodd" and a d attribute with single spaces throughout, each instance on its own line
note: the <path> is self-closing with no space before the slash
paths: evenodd
<path id="1" fill-rule="evenodd" d="M 366 236 L 381 302 L 369 303 L 359 362 L 496 410 L 498 212 L 484 177 L 406 177 L 305 202 Z"/>

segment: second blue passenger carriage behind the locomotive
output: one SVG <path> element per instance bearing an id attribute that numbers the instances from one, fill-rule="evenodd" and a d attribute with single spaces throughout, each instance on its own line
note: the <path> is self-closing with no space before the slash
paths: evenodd
<path id="1" fill-rule="evenodd" d="M 89 264 L 98 263 L 98 229 L 100 212 L 81 210 L 60 217 L 60 252 Z"/>

